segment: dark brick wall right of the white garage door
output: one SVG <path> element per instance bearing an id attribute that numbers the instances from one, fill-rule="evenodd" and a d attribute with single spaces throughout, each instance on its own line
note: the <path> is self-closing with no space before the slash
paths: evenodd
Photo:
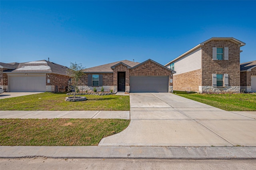
<path id="1" fill-rule="evenodd" d="M 50 79 L 50 83 L 47 83 L 47 80 Z M 69 76 L 64 76 L 60 74 L 46 74 L 46 91 L 47 92 L 65 92 L 66 87 L 68 86 Z M 56 89 L 58 86 L 58 89 Z"/>

